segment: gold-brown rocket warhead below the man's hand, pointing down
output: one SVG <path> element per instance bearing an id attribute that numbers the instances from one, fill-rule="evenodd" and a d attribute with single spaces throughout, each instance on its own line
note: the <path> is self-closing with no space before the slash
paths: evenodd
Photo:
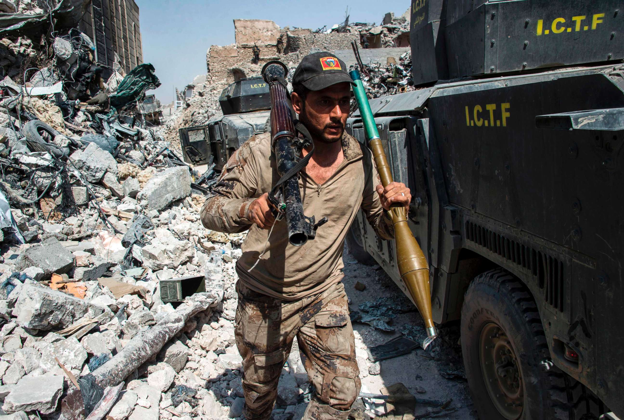
<path id="1" fill-rule="evenodd" d="M 397 213 L 403 214 L 397 214 Z M 427 331 L 427 338 L 422 341 L 422 348 L 426 349 L 437 337 L 437 330 L 433 323 L 431 313 L 431 289 L 429 287 L 429 264 L 422 253 L 421 247 L 412 236 L 412 231 L 407 226 L 404 217 L 404 209 L 392 209 L 390 212 L 394 224 L 394 239 L 397 244 L 396 260 L 399 265 L 401 279 L 409 291 L 416 307 L 421 313 Z M 397 221 L 395 222 L 395 216 Z M 401 217 L 403 216 L 403 217 Z"/>

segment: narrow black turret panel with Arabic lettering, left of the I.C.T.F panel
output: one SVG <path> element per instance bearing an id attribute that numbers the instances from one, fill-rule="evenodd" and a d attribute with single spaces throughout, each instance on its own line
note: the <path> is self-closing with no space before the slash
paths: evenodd
<path id="1" fill-rule="evenodd" d="M 412 46 L 414 85 L 449 78 L 444 42 L 445 15 L 446 0 L 412 0 L 409 44 Z"/>

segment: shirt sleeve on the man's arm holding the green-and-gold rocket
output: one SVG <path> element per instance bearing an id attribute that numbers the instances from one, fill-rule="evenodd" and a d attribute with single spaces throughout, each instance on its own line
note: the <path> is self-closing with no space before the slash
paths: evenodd
<path id="1" fill-rule="evenodd" d="M 364 211 L 364 216 L 373 226 L 377 236 L 381 239 L 394 239 L 392 220 L 388 216 L 388 212 L 381 206 L 379 194 L 375 191 L 375 187 L 381 184 L 381 180 L 379 179 L 373 156 L 370 152 L 364 153 L 363 159 L 366 182 L 364 183 L 361 207 Z M 367 162 L 369 162 L 369 165 L 367 165 Z"/>

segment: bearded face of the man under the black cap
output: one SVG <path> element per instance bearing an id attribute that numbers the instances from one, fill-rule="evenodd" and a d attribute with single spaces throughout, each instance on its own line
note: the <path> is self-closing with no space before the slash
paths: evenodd
<path id="1" fill-rule="evenodd" d="M 291 99 L 295 112 L 311 135 L 323 143 L 334 143 L 343 136 L 344 125 L 349 117 L 350 93 L 351 85 L 343 82 L 323 90 L 311 90 L 305 103 L 296 93 L 292 94 Z"/>

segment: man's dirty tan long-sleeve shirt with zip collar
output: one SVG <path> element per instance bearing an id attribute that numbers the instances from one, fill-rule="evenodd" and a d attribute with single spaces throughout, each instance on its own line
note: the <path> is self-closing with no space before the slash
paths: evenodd
<path id="1" fill-rule="evenodd" d="M 245 218 L 253 200 L 271 190 L 280 179 L 271 154 L 270 133 L 253 136 L 230 158 L 203 205 L 203 226 L 213 231 L 249 233 L 236 272 L 246 287 L 283 300 L 297 300 L 326 290 L 342 279 L 343 244 L 351 222 L 362 208 L 366 219 L 383 239 L 394 237 L 394 228 L 381 207 L 375 186 L 379 178 L 373 156 L 366 146 L 344 134 L 344 160 L 323 184 L 301 172 L 299 187 L 306 216 L 323 217 L 316 237 L 296 247 L 288 242 L 285 219 L 273 232 L 260 229 Z M 258 264 L 250 271 L 265 249 Z"/>

